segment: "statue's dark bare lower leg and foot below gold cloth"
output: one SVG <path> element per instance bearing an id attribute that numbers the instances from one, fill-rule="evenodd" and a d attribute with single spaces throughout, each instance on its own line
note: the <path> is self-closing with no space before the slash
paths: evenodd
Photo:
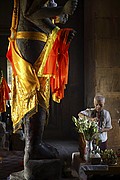
<path id="1" fill-rule="evenodd" d="M 24 162 L 28 160 L 56 159 L 58 151 L 42 141 L 46 120 L 45 109 L 39 106 L 38 113 L 25 120 L 25 154 Z"/>

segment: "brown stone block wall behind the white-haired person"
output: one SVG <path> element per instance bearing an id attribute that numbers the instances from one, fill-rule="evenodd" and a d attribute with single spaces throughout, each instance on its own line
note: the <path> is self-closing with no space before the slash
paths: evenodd
<path id="1" fill-rule="evenodd" d="M 85 105 L 106 97 L 112 116 L 109 148 L 120 148 L 120 1 L 84 1 Z"/>

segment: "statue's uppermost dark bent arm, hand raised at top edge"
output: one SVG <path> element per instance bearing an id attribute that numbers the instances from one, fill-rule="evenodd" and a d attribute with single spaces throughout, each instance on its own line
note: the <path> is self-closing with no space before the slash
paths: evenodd
<path id="1" fill-rule="evenodd" d="M 68 0 L 64 6 L 45 7 L 47 0 L 34 0 L 32 3 L 29 0 L 23 0 L 21 8 L 26 19 L 36 24 L 39 27 L 41 19 L 61 16 L 63 14 L 71 15 L 74 13 L 78 0 Z"/>

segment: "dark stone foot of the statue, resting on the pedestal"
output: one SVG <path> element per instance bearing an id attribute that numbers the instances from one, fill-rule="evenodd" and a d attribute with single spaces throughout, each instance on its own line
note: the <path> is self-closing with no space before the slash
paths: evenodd
<path id="1" fill-rule="evenodd" d="M 57 158 L 59 158 L 59 152 L 57 149 L 43 142 L 35 145 L 30 153 L 30 159 L 32 160 Z"/>

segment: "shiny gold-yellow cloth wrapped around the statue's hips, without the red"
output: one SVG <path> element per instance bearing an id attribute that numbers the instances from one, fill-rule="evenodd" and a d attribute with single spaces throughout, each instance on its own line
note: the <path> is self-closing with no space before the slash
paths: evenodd
<path id="1" fill-rule="evenodd" d="M 12 63 L 16 71 L 13 74 L 11 104 L 14 132 L 21 127 L 22 118 L 27 113 L 31 116 L 37 112 L 38 104 L 46 110 L 49 108 L 50 77 L 44 77 L 43 70 L 58 31 L 58 27 L 53 30 L 33 66 L 22 58 L 16 41 L 10 39 Z"/>

